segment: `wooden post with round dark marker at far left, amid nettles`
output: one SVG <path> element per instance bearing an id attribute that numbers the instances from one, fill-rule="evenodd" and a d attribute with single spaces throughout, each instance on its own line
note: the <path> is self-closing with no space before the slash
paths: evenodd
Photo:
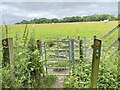
<path id="1" fill-rule="evenodd" d="M 11 74 L 11 83 L 12 87 L 14 87 L 14 56 L 13 56 L 13 39 L 6 38 L 2 40 L 3 46 L 3 60 L 2 67 L 5 67 L 10 64 L 10 74 Z"/>

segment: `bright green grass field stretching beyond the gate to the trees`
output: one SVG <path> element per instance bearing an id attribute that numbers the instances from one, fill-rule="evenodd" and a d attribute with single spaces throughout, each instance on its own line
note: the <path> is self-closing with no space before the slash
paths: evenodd
<path id="1" fill-rule="evenodd" d="M 101 38 L 106 32 L 115 27 L 118 24 L 117 21 L 110 21 L 108 23 L 101 22 L 78 22 L 78 23 L 57 23 L 57 24 L 29 24 L 29 32 L 34 31 L 35 38 L 46 40 L 55 38 L 77 38 L 89 37 L 93 38 L 96 35 Z M 4 30 L 3 26 L 3 30 Z M 9 37 L 14 37 L 16 32 L 23 34 L 25 25 L 8 25 Z M 112 36 L 117 36 L 117 32 Z"/>

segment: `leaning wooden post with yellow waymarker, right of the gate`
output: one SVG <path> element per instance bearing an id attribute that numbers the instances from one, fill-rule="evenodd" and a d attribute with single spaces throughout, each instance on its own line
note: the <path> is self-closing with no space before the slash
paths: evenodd
<path id="1" fill-rule="evenodd" d="M 91 88 L 97 88 L 98 70 L 101 53 L 101 40 L 94 36 L 93 57 L 92 57 L 92 72 L 91 72 Z"/>

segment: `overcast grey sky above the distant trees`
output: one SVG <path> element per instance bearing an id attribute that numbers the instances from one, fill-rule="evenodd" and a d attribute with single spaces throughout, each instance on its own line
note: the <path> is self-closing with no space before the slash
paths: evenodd
<path id="1" fill-rule="evenodd" d="M 2 22 L 13 24 L 34 18 L 63 18 L 91 14 L 118 14 L 118 2 L 2 2 Z"/>

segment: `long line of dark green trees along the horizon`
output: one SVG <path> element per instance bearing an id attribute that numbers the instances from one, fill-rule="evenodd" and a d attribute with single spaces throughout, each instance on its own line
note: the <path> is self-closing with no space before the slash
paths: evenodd
<path id="1" fill-rule="evenodd" d="M 71 16 L 64 18 L 35 18 L 32 20 L 22 20 L 15 24 L 44 24 L 44 23 L 67 23 L 67 22 L 88 22 L 88 21 L 103 21 L 103 20 L 118 20 L 118 17 L 110 14 L 93 14 L 89 16 Z"/>

